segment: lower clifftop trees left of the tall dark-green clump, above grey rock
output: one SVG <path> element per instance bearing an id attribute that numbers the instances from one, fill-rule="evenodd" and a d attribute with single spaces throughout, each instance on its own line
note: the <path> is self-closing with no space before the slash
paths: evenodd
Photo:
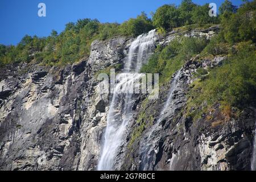
<path id="1" fill-rule="evenodd" d="M 119 25 L 100 23 L 97 19 L 70 22 L 60 34 L 52 30 L 47 38 L 26 35 L 17 46 L 0 46 L 0 66 L 34 60 L 44 65 L 74 63 L 88 57 L 93 40 L 106 40 L 118 35 L 137 36 L 152 30 L 152 22 L 145 13 Z"/>

